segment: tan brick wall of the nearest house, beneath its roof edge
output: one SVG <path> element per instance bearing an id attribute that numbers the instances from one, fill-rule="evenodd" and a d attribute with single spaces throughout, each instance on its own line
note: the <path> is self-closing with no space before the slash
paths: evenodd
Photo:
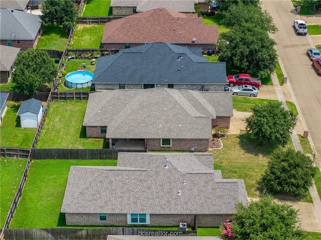
<path id="1" fill-rule="evenodd" d="M 127 214 L 107 214 L 107 221 L 99 221 L 98 213 L 66 213 L 66 225 L 114 225 L 137 226 L 127 224 Z M 178 226 L 180 222 L 186 222 L 194 226 L 194 214 L 150 214 L 149 226 Z M 200 227 L 219 226 L 231 215 L 197 214 L 197 225 Z"/>

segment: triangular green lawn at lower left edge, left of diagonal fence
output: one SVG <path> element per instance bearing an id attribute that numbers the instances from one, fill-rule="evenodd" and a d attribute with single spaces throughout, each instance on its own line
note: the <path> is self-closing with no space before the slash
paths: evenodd
<path id="1" fill-rule="evenodd" d="M 0 225 L 5 220 L 26 168 L 27 159 L 0 158 Z"/>

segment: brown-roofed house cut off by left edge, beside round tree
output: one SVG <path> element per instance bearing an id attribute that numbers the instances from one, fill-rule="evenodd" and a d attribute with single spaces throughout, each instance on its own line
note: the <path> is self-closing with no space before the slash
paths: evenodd
<path id="1" fill-rule="evenodd" d="M 8 83 L 20 48 L 0 45 L 0 83 Z"/>

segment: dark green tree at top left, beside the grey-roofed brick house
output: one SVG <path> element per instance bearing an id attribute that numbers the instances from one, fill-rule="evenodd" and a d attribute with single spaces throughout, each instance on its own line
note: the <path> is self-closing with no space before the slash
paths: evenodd
<path id="1" fill-rule="evenodd" d="M 63 31 L 69 32 L 74 26 L 77 11 L 74 0 L 44 0 L 41 7 L 41 19 L 46 24 L 61 25 Z"/>

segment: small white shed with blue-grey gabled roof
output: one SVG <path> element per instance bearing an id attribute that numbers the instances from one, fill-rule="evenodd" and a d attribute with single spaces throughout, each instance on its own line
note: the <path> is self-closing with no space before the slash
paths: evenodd
<path id="1" fill-rule="evenodd" d="M 31 98 L 22 102 L 17 115 L 21 127 L 38 128 L 42 117 L 42 101 Z"/>

